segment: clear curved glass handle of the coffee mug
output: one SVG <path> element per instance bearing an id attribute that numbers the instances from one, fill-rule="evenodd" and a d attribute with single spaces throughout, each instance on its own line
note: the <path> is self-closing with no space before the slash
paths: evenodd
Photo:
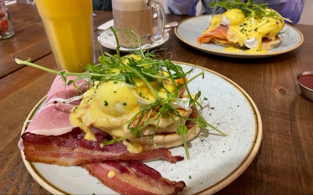
<path id="1" fill-rule="evenodd" d="M 156 13 L 157 13 L 157 32 L 155 36 L 149 37 L 149 39 L 151 38 L 154 40 L 160 39 L 164 35 L 164 25 L 165 25 L 164 9 L 161 3 L 153 1 L 153 0 L 148 0 L 148 6 L 156 9 Z"/>

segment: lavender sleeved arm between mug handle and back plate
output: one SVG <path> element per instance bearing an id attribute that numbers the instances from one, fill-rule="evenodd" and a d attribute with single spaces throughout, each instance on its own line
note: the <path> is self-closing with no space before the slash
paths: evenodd
<path id="1" fill-rule="evenodd" d="M 167 10 L 172 14 L 194 16 L 196 2 L 195 0 L 167 0 Z"/>

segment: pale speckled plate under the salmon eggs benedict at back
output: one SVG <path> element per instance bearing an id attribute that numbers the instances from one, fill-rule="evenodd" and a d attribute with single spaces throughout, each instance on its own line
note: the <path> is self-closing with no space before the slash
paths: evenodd
<path id="1" fill-rule="evenodd" d="M 286 53 L 288 51 L 292 51 L 298 48 L 303 43 L 303 35 L 302 33 L 288 24 L 285 24 L 282 32 L 280 34 L 280 39 L 282 42 L 276 48 L 269 50 L 267 53 L 253 54 L 253 53 L 245 53 L 244 51 L 238 52 L 230 52 L 223 51 L 223 46 L 215 45 L 214 43 L 203 43 L 199 44 L 197 42 L 197 38 L 202 36 L 202 32 L 208 28 L 208 17 L 210 15 L 202 15 L 196 17 L 190 17 L 185 20 L 182 20 L 178 23 L 177 27 L 175 27 L 175 35 L 184 43 L 193 48 L 196 48 L 200 51 L 204 51 L 207 53 L 219 55 L 219 56 L 227 56 L 227 57 L 237 57 L 237 58 L 260 58 L 260 57 L 269 57 L 275 56 L 279 54 Z"/>

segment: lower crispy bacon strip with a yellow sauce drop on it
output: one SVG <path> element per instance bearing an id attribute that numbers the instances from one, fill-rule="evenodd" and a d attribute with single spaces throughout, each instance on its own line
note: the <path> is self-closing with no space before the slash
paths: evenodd
<path id="1" fill-rule="evenodd" d="M 177 194 L 186 187 L 183 181 L 163 178 L 155 169 L 137 161 L 105 160 L 80 166 L 121 194 Z M 110 171 L 116 174 L 112 178 L 109 177 Z"/>

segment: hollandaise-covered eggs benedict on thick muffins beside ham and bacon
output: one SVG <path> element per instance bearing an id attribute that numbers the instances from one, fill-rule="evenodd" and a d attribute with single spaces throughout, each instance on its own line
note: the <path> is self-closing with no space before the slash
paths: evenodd
<path id="1" fill-rule="evenodd" d="M 136 55 L 123 59 L 126 63 L 141 60 Z M 121 72 L 112 69 L 110 74 L 120 75 Z M 184 139 L 189 141 L 200 128 L 188 118 L 198 115 L 189 104 L 190 97 L 184 93 L 183 79 L 172 80 L 170 74 L 160 70 L 155 80 L 133 78 L 134 85 L 126 80 L 97 80 L 72 111 L 70 120 L 81 129 L 87 129 L 86 139 L 95 140 L 88 129 L 96 127 L 114 140 L 123 140 L 132 153 L 181 145 L 184 141 L 182 135 L 177 134 L 177 126 L 187 127 Z"/>

